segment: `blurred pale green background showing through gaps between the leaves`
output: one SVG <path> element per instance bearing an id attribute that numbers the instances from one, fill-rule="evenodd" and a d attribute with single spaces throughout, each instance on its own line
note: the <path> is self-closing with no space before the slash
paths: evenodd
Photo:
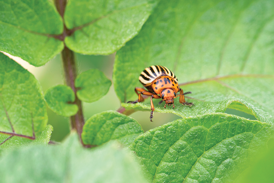
<path id="1" fill-rule="evenodd" d="M 104 74 L 106 74 L 106 76 L 112 81 L 115 53 L 108 56 L 90 56 L 76 53 L 75 57 L 78 66 L 78 74 L 89 69 L 98 69 L 104 72 Z M 41 67 L 34 67 L 25 61 L 18 62 L 38 79 L 42 86 L 43 92 L 45 92 L 51 86 L 64 84 L 64 72 L 62 68 L 60 54 L 58 54 L 54 59 Z M 138 80 L 138 78 L 136 78 L 136 80 Z M 105 95 L 100 100 L 93 103 L 83 102 L 84 117 L 85 120 L 87 120 L 94 114 L 107 110 L 117 110 L 119 107 L 120 101 L 114 92 L 112 84 L 107 95 Z M 62 139 L 65 138 L 66 135 L 68 135 L 70 131 L 69 118 L 58 116 L 56 113 L 48 108 L 47 113 L 48 124 L 51 124 L 53 126 L 51 140 L 60 142 Z M 251 120 L 256 120 L 254 116 L 234 109 L 227 109 L 226 113 L 249 118 Z M 130 115 L 130 117 L 139 122 L 144 131 L 148 131 L 149 129 L 180 118 L 179 116 L 172 113 L 154 113 L 153 122 L 151 123 L 149 120 L 149 116 L 150 111 L 138 111 Z"/>

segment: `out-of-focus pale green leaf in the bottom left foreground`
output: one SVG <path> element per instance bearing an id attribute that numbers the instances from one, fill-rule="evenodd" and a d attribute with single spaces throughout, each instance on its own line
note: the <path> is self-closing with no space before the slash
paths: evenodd
<path id="1" fill-rule="evenodd" d="M 133 157 L 116 143 L 84 149 L 77 135 L 62 145 L 9 151 L 0 163 L 1 182 L 146 182 Z"/>

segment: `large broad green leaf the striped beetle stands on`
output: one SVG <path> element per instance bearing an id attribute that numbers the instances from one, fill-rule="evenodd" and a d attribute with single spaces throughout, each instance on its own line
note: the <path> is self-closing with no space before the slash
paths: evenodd
<path id="1" fill-rule="evenodd" d="M 174 109 L 164 109 L 154 99 L 156 111 L 187 117 L 224 112 L 238 101 L 273 122 L 273 16 L 273 1 L 161 1 L 139 35 L 116 54 L 116 94 L 122 102 L 138 99 L 134 88 L 142 87 L 142 70 L 163 65 L 192 92 L 186 101 L 195 106 L 175 99 Z M 149 100 L 122 105 L 150 109 Z"/>

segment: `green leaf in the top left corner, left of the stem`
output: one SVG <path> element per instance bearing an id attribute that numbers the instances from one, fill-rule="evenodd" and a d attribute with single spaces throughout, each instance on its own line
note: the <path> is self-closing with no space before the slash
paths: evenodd
<path id="1" fill-rule="evenodd" d="M 64 48 L 62 18 L 47 0 L 0 0 L 0 50 L 42 66 Z"/>

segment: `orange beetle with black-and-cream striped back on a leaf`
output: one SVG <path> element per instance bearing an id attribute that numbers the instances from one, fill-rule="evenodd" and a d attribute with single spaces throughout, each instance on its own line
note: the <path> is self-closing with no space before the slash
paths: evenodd
<path id="1" fill-rule="evenodd" d="M 183 105 L 192 106 L 193 103 L 186 102 L 184 99 L 184 95 L 191 93 L 186 92 L 178 87 L 178 80 L 177 77 L 174 75 L 173 72 L 171 72 L 167 67 L 164 66 L 150 66 L 147 67 L 145 70 L 143 70 L 139 76 L 139 81 L 142 83 L 144 87 L 146 87 L 145 90 L 143 88 L 136 87 L 135 93 L 138 95 L 138 100 L 136 101 L 129 101 L 131 103 L 137 103 L 137 102 L 143 102 L 144 98 L 142 95 L 151 96 L 150 97 L 150 105 L 151 105 L 151 113 L 150 113 L 150 121 L 152 122 L 153 118 L 153 111 L 154 111 L 154 105 L 152 102 L 152 99 L 160 99 L 162 98 L 162 101 L 165 101 L 166 104 L 164 108 L 166 108 L 166 105 L 174 106 L 174 99 L 178 96 L 179 102 Z M 180 91 L 180 95 L 176 96 L 176 93 Z M 138 93 L 139 92 L 139 93 Z M 128 102 L 128 103 L 129 103 Z"/>

